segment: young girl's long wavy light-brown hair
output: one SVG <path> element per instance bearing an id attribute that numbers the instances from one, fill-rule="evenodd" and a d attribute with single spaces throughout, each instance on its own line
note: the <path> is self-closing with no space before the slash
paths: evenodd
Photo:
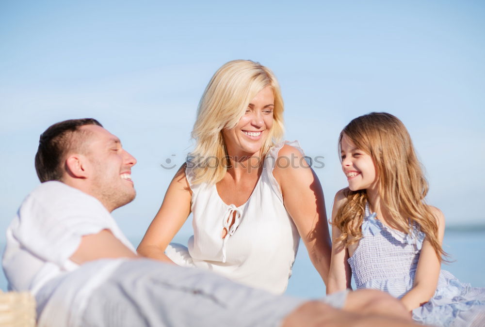
<path id="1" fill-rule="evenodd" d="M 343 136 L 357 149 L 369 154 L 378 175 L 381 203 L 399 229 L 411 233 L 417 223 L 438 258 L 446 256 L 438 240 L 436 217 L 425 203 L 428 183 L 416 156 L 411 137 L 404 124 L 386 112 L 371 112 L 352 120 L 340 132 L 339 153 Z M 367 202 L 366 190 L 345 189 L 345 202 L 332 222 L 339 228 L 338 242 L 348 246 L 362 238 L 361 225 Z M 352 236 L 350 240 L 347 237 Z"/>

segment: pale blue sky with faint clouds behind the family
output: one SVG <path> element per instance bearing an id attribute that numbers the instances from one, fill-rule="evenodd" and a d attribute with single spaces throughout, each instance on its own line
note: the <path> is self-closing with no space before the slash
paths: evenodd
<path id="1" fill-rule="evenodd" d="M 325 157 L 327 210 L 346 185 L 340 130 L 388 111 L 409 129 L 429 202 L 450 225 L 483 223 L 484 16 L 481 1 L 2 1 L 0 230 L 39 183 L 40 133 L 94 117 L 138 159 L 137 199 L 114 216 L 139 241 L 175 173 L 160 164 L 183 162 L 199 98 L 233 59 L 274 71 L 286 139 Z"/>

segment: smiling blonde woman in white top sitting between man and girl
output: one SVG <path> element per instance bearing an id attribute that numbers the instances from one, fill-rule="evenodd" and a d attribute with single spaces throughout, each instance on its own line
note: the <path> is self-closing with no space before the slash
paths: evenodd
<path id="1" fill-rule="evenodd" d="M 194 151 L 176 173 L 138 252 L 283 293 L 300 236 L 324 282 L 331 245 L 320 182 L 283 142 L 283 100 L 258 62 L 224 64 L 199 103 Z M 170 244 L 189 214 L 188 249 Z"/>

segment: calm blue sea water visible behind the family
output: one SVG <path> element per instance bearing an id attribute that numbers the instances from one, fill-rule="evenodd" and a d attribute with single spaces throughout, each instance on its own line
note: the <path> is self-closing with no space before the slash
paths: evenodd
<path id="1" fill-rule="evenodd" d="M 187 238 L 179 236 L 174 241 L 185 244 Z M 141 237 L 132 238 L 131 241 L 138 246 L 140 239 Z M 442 269 L 450 271 L 461 282 L 470 283 L 472 286 L 485 286 L 485 230 L 483 228 L 447 230 L 443 248 L 454 261 L 451 264 L 443 264 Z M 28 268 L 25 267 L 25 269 Z M 7 290 L 7 281 L 3 272 L 0 274 L 0 288 L 3 291 Z M 325 285 L 308 258 L 303 242 L 300 242 L 286 294 L 305 298 L 325 296 Z"/>

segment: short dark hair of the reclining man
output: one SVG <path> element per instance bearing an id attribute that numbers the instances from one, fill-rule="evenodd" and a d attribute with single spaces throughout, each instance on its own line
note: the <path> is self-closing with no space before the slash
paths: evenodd
<path id="1" fill-rule="evenodd" d="M 63 157 L 69 151 L 74 141 L 74 132 L 83 125 L 101 125 L 96 119 L 69 119 L 51 125 L 40 135 L 39 148 L 35 154 L 35 171 L 42 183 L 60 181 L 64 170 L 61 165 Z"/>

